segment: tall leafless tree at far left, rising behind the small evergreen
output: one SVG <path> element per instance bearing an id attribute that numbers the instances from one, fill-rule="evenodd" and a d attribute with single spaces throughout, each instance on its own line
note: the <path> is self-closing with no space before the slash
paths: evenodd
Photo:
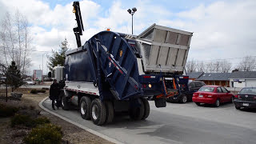
<path id="1" fill-rule="evenodd" d="M 26 17 L 18 10 L 14 15 L 7 12 L 1 20 L 0 42 L 6 66 L 14 61 L 21 74 L 26 74 L 26 69 L 31 65 L 29 52 L 32 38 Z"/>

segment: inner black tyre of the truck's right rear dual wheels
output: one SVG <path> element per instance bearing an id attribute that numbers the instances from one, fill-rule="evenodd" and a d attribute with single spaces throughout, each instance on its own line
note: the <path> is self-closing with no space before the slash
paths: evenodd
<path id="1" fill-rule="evenodd" d="M 141 103 L 141 106 L 137 107 L 131 107 L 129 110 L 130 118 L 134 120 L 141 120 L 144 116 L 145 106 L 142 102 L 142 99 L 138 99 L 139 103 Z"/>

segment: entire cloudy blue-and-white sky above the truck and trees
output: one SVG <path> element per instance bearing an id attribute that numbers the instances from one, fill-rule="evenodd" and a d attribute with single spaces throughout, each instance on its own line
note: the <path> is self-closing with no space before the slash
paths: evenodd
<path id="1" fill-rule="evenodd" d="M 73 28 L 76 26 L 70 0 L 0 0 L 0 21 L 6 11 L 18 9 L 30 22 L 34 35 L 33 69 L 42 66 L 46 72 L 46 54 L 58 50 L 67 38 L 70 48 L 76 46 Z M 106 27 L 131 34 L 129 8 L 134 14 L 134 34 L 140 34 L 153 23 L 194 32 L 188 59 L 209 61 L 256 56 L 256 1 L 255 0 L 83 0 L 80 1 L 85 31 L 82 43 Z M 42 68 L 42 67 L 41 67 Z"/>

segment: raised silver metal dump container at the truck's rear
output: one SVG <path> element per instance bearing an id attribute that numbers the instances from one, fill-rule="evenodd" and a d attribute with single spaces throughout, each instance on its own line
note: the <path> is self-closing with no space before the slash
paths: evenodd
<path id="1" fill-rule="evenodd" d="M 136 39 L 145 72 L 182 73 L 193 33 L 153 24 Z"/>

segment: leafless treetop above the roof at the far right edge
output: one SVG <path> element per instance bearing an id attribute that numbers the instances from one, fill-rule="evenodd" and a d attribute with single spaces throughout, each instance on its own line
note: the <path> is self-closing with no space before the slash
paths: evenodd
<path id="1" fill-rule="evenodd" d="M 238 69 L 241 71 L 253 71 L 256 68 L 256 58 L 247 56 L 242 58 L 238 64 Z"/>

